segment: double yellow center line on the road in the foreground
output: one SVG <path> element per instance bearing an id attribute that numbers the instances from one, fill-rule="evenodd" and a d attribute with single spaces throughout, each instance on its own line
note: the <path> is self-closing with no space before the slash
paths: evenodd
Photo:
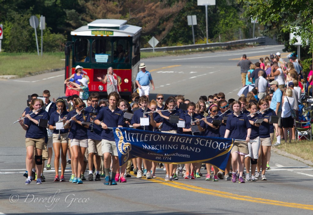
<path id="1" fill-rule="evenodd" d="M 212 195 L 212 196 L 216 196 L 216 197 L 223 197 L 223 198 L 229 198 L 229 199 L 241 200 L 241 201 L 247 201 L 247 202 L 253 202 L 253 203 L 277 205 L 277 206 L 282 206 L 282 207 L 292 207 L 292 208 L 313 210 L 313 205 L 298 204 L 298 203 L 293 203 L 293 202 L 282 202 L 282 201 L 276 201 L 276 200 L 255 198 L 255 197 L 251 197 L 251 196 L 241 196 L 241 195 L 233 194 L 233 193 L 229 193 L 229 192 L 223 192 L 223 191 L 193 186 L 193 185 L 189 185 L 189 184 L 179 183 L 177 181 L 167 182 L 167 181 L 164 181 L 163 178 L 153 178 L 153 179 L 151 179 L 151 181 L 155 182 L 155 183 L 167 185 L 170 187 L 182 189 L 182 190 Z"/>

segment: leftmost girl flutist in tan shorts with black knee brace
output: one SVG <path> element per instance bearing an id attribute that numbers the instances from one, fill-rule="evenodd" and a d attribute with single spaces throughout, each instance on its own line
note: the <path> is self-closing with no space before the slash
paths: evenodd
<path id="1" fill-rule="evenodd" d="M 27 171 L 28 173 L 32 172 L 33 161 L 35 158 L 36 171 L 41 173 L 42 170 L 42 150 L 44 149 L 45 138 L 48 137 L 47 129 L 44 127 L 38 126 L 40 119 L 49 120 L 49 113 L 40 109 L 44 106 L 44 102 L 40 99 L 33 99 L 30 104 L 30 111 L 25 114 L 23 120 L 20 120 L 19 123 L 22 128 L 26 131 L 26 153 L 27 153 Z M 38 112 L 37 112 L 38 110 Z M 32 115 L 30 115 L 33 113 Z M 35 151 L 35 156 L 34 156 Z M 29 185 L 32 181 L 31 174 L 28 174 L 25 184 Z M 37 184 L 41 184 L 41 178 L 37 179 Z"/>

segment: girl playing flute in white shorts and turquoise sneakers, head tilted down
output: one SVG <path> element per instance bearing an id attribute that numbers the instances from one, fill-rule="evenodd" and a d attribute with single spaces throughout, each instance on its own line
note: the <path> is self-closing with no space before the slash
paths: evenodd
<path id="1" fill-rule="evenodd" d="M 86 105 L 83 100 L 81 98 L 77 98 L 74 103 L 75 109 L 69 112 L 66 118 L 66 126 L 64 127 L 65 129 L 70 127 L 69 139 L 73 152 L 71 163 L 73 163 L 75 175 L 72 183 L 77 184 L 83 183 L 83 181 L 81 180 L 81 171 L 84 166 L 85 151 L 86 148 L 88 148 L 87 128 L 89 127 L 89 125 L 84 125 L 82 123 L 90 122 L 90 116 L 88 112 L 83 110 L 85 107 Z M 70 119 L 71 121 L 69 121 Z"/>

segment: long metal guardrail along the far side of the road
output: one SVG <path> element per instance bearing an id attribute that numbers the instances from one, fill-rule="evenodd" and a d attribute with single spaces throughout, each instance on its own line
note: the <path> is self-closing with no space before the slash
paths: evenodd
<path id="1" fill-rule="evenodd" d="M 154 50 L 156 52 L 163 51 L 176 51 L 176 50 L 186 50 L 186 49 L 197 49 L 197 48 L 208 48 L 208 47 L 221 47 L 221 46 L 233 46 L 246 43 L 265 43 L 265 37 L 257 37 L 253 39 L 245 40 L 235 40 L 230 42 L 213 42 L 213 43 L 204 43 L 204 44 L 195 44 L 195 45 L 185 45 L 185 46 L 168 46 L 168 47 L 156 47 Z M 141 52 L 152 52 L 153 48 L 141 48 Z"/>

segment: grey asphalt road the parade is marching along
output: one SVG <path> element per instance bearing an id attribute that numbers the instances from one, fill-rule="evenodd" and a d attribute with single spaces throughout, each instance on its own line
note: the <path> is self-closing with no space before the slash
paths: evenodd
<path id="1" fill-rule="evenodd" d="M 226 99 L 238 98 L 241 88 L 242 54 L 257 62 L 270 53 L 282 52 L 283 46 L 246 48 L 217 53 L 143 59 L 151 71 L 155 91 L 182 94 L 197 102 L 201 95 L 224 92 Z M 287 53 L 282 54 L 283 57 Z M 285 60 L 287 60 L 285 58 Z M 136 179 L 105 186 L 102 182 L 53 182 L 54 166 L 45 171 L 42 185 L 25 185 L 25 131 L 12 124 L 26 107 L 27 96 L 49 89 L 52 97 L 64 95 L 64 71 L 32 77 L 0 80 L 0 214 L 311 214 L 313 211 L 313 168 L 299 161 L 272 153 L 267 181 L 244 184 L 220 180 L 205 181 L 179 178 L 165 182 L 165 172 L 158 178 Z M 203 174 L 205 170 L 201 170 Z M 68 180 L 70 169 L 66 170 Z"/>

